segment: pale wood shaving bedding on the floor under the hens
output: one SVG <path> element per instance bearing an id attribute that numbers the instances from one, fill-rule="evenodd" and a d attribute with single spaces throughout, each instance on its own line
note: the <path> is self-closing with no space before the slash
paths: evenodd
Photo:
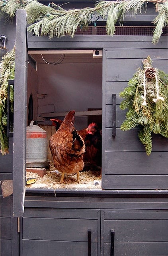
<path id="1" fill-rule="evenodd" d="M 53 163 L 50 163 L 47 174 L 41 178 L 37 173 L 26 172 L 26 179 L 36 178 L 36 182 L 27 185 L 27 188 L 48 188 L 48 189 L 100 189 L 101 171 L 86 170 L 79 173 L 80 183 L 77 183 L 76 174 L 65 174 L 64 182 L 60 184 L 61 173 L 55 170 Z"/>

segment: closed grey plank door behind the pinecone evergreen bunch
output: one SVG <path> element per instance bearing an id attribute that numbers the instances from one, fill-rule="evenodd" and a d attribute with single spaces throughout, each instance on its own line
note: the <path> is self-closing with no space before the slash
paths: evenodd
<path id="1" fill-rule="evenodd" d="M 131 42 L 129 44 L 131 47 Z M 150 55 L 153 67 L 167 72 L 166 50 L 108 48 L 103 50 L 103 128 L 102 188 L 103 189 L 164 189 L 168 188 L 168 139 L 153 134 L 152 153 L 147 156 L 139 141 L 137 128 L 122 131 L 126 111 L 120 110 L 119 97 L 142 60 Z M 113 102 L 116 94 L 116 136 L 113 136 Z M 115 109 L 115 108 L 114 108 Z"/>

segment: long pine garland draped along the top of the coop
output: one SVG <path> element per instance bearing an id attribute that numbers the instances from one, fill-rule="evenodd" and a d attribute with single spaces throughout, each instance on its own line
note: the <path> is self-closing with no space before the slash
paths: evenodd
<path id="1" fill-rule="evenodd" d="M 120 20 L 120 25 L 126 13 L 133 16 L 146 12 L 148 2 L 156 6 L 158 15 L 154 19 L 156 25 L 152 43 L 157 44 L 162 34 L 162 29 L 168 25 L 168 0 L 117 0 L 98 1 L 94 8 L 64 10 L 61 6 L 49 3 L 45 6 L 37 0 L 0 0 L 0 13 L 10 18 L 16 15 L 17 9 L 25 9 L 27 21 L 31 24 L 28 28 L 36 36 L 61 37 L 71 36 L 78 26 L 88 26 L 94 20 L 103 18 L 106 21 L 107 35 L 115 34 L 115 24 Z"/>

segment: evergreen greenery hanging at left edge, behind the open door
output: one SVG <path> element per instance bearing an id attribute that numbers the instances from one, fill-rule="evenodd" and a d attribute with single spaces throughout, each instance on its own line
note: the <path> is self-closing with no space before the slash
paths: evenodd
<path id="1" fill-rule="evenodd" d="M 0 64 L 0 152 L 8 153 L 7 111 L 14 113 L 14 88 L 10 86 L 10 110 L 8 104 L 8 80 L 14 79 L 15 47 L 8 52 Z"/>

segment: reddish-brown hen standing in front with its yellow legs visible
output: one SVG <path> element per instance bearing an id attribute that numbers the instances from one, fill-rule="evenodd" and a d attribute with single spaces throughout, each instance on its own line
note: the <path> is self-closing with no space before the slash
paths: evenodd
<path id="1" fill-rule="evenodd" d="M 79 172 L 84 167 L 85 145 L 84 140 L 74 128 L 74 114 L 74 110 L 68 112 L 49 142 L 54 166 L 62 172 L 61 183 L 64 182 L 65 173 L 77 173 L 77 181 L 80 182 Z"/>

